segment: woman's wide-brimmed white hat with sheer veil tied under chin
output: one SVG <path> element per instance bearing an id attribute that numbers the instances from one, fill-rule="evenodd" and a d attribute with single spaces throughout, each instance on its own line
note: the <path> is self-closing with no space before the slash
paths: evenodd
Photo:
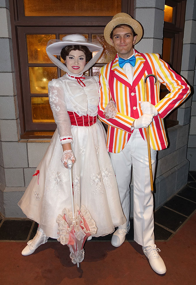
<path id="1" fill-rule="evenodd" d="M 96 55 L 92 57 L 92 59 L 85 65 L 82 73 L 87 71 L 90 67 L 92 67 L 93 64 L 95 64 L 95 62 L 99 59 L 103 51 L 103 47 L 100 43 L 89 42 L 83 35 L 80 34 L 64 36 L 62 38 L 62 41 L 55 39 L 48 41 L 46 47 L 46 53 L 48 54 L 48 57 L 56 66 L 60 67 L 60 69 L 64 70 L 65 72 L 68 72 L 69 74 L 70 71 L 68 70 L 68 68 L 54 55 L 61 55 L 62 48 L 64 48 L 65 46 L 72 45 L 86 46 L 90 50 L 90 52 L 98 51 L 98 53 L 96 53 Z M 74 75 L 76 76 L 77 74 Z"/>

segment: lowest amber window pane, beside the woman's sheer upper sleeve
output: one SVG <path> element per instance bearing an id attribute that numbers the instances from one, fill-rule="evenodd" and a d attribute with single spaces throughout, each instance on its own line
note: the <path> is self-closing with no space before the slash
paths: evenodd
<path id="1" fill-rule="evenodd" d="M 33 123 L 54 123 L 48 97 L 31 97 Z"/>

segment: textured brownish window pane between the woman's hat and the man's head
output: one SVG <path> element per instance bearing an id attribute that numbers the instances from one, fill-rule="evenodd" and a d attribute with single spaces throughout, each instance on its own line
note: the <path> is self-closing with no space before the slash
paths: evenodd
<path id="1" fill-rule="evenodd" d="M 92 35 L 92 41 L 98 41 L 104 47 L 104 51 L 103 51 L 101 57 L 99 58 L 99 60 L 97 61 L 98 63 L 107 63 L 107 62 L 112 61 L 115 58 L 116 51 L 115 51 L 113 46 L 109 45 L 105 41 L 103 34 Z M 96 53 L 97 52 L 92 53 L 93 56 L 95 56 Z"/>

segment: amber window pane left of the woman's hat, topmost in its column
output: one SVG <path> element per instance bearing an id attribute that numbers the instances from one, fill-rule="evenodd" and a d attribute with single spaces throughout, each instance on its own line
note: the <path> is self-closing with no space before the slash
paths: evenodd
<path id="1" fill-rule="evenodd" d="M 26 35 L 29 63 L 51 63 L 46 46 L 49 40 L 55 39 L 55 35 Z"/>

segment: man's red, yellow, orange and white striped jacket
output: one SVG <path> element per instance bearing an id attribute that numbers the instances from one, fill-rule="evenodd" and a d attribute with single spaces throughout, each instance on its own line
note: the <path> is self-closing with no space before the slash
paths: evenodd
<path id="1" fill-rule="evenodd" d="M 133 83 L 130 84 L 123 69 L 118 65 L 118 57 L 104 65 L 99 71 L 101 94 L 98 115 L 101 121 L 108 125 L 107 149 L 119 153 L 131 136 L 133 121 L 142 115 L 139 101 L 144 100 L 144 78 L 155 74 L 158 84 L 154 85 L 154 77 L 146 82 L 147 101 L 151 102 L 159 112 L 150 124 L 150 147 L 155 150 L 167 148 L 167 137 L 163 118 L 180 105 L 190 94 L 190 87 L 185 80 L 160 59 L 158 54 L 138 53 L 135 50 L 136 64 Z M 170 91 L 162 100 L 159 98 L 160 83 Z M 110 100 L 116 103 L 117 115 L 106 120 L 104 109 Z M 139 129 L 146 140 L 146 128 Z"/>

